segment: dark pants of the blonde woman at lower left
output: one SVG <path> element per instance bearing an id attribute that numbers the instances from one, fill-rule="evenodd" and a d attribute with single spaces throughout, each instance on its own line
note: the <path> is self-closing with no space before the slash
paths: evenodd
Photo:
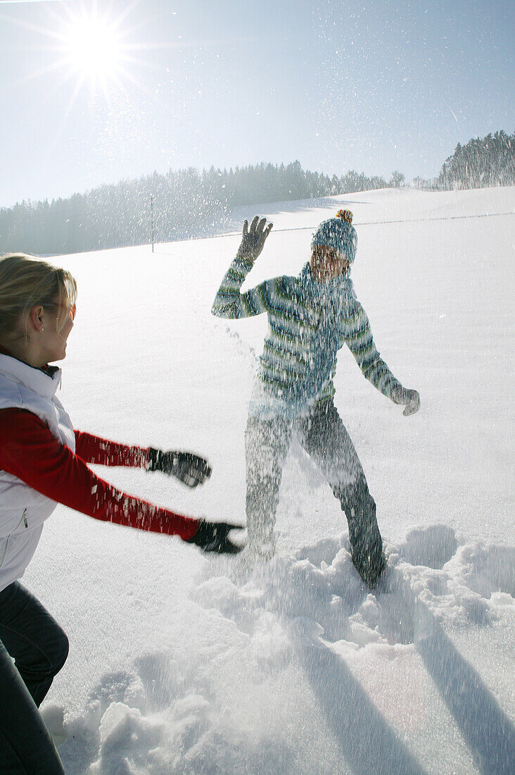
<path id="1" fill-rule="evenodd" d="M 67 636 L 33 594 L 16 581 L 0 592 L 2 775 L 64 773 L 38 707 L 67 653 Z"/>

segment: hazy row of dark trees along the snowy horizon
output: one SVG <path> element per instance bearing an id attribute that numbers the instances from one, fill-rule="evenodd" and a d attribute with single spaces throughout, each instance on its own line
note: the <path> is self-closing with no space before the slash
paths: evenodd
<path id="1" fill-rule="evenodd" d="M 456 146 L 434 181 L 418 178 L 421 188 L 476 188 L 515 184 L 515 136 L 504 132 Z M 223 227 L 233 208 L 285 200 L 350 194 L 399 187 L 390 181 L 348 171 L 331 177 L 290 164 L 256 164 L 199 172 L 194 167 L 138 180 L 102 185 L 85 194 L 51 202 L 21 202 L 0 208 L 0 250 L 38 255 L 80 253 L 109 247 L 208 236 Z"/>

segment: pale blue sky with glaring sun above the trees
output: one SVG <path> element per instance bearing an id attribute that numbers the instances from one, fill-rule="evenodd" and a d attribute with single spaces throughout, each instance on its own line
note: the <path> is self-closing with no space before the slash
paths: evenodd
<path id="1" fill-rule="evenodd" d="M 180 167 L 438 175 L 515 126 L 513 2 L 0 0 L 0 207 Z"/>

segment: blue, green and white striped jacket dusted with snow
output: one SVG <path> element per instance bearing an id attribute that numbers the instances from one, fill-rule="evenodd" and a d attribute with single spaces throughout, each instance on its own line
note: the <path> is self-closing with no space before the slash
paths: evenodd
<path id="1" fill-rule="evenodd" d="M 252 263 L 232 261 L 211 308 L 219 318 L 248 318 L 266 312 L 269 330 L 259 356 L 258 377 L 263 411 L 275 405 L 291 416 L 335 394 L 336 356 L 345 343 L 362 374 L 393 399 L 402 387 L 379 357 L 369 319 L 355 295 L 352 280 L 338 275 L 319 283 L 306 263 L 298 277 L 274 277 L 241 293 Z M 251 405 L 252 408 L 252 405 Z"/>

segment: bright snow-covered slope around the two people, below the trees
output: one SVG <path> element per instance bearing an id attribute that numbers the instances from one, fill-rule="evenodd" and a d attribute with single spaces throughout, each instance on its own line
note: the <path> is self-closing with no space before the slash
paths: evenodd
<path id="1" fill-rule="evenodd" d="M 340 353 L 336 403 L 390 584 L 363 589 L 339 505 L 295 445 L 278 554 L 253 573 L 57 508 L 24 581 L 70 636 L 46 703 L 65 709 L 67 773 L 512 771 L 514 200 L 513 188 L 389 190 L 265 209 L 275 230 L 252 284 L 297 274 L 318 222 L 352 209 L 356 291 L 383 358 L 421 392 L 404 418 Z M 266 320 L 210 314 L 238 244 L 60 257 L 79 284 L 60 398 L 77 428 L 194 449 L 214 469 L 194 492 L 160 474 L 101 475 L 244 522 Z"/>

